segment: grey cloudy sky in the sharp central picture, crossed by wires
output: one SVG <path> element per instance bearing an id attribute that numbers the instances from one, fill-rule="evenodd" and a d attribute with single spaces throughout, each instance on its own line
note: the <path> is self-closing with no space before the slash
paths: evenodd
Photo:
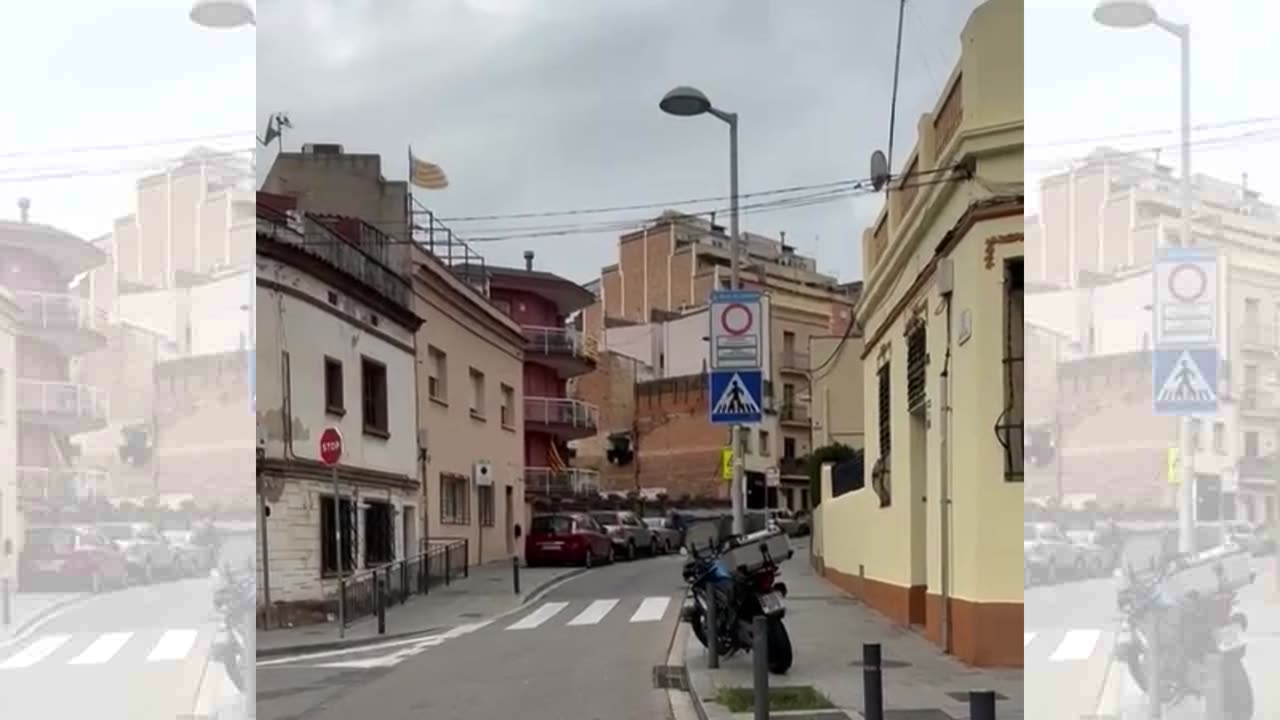
<path id="1" fill-rule="evenodd" d="M 909 0 L 896 159 L 914 145 L 959 58 L 975 0 Z M 406 177 L 406 149 L 440 164 L 445 191 L 417 196 L 445 218 L 662 204 L 728 193 L 727 132 L 672 118 L 658 100 L 694 85 L 740 114 L 741 191 L 868 174 L 884 149 L 896 0 L 262 0 L 257 110 L 288 111 L 287 149 L 340 142 Z M 259 152 L 259 174 L 274 147 Z M 895 161 L 895 165 L 899 163 Z M 723 208 L 704 202 L 685 209 Z M 876 197 L 744 217 L 742 228 L 861 277 Z M 453 222 L 463 237 L 599 228 L 649 210 Z M 717 218 L 727 224 L 727 213 Z M 614 261 L 617 232 L 477 246 L 492 263 L 538 252 L 579 282 Z"/>

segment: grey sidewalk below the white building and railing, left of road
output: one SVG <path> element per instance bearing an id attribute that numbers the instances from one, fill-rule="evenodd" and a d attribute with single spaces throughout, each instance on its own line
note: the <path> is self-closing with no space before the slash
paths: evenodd
<path id="1" fill-rule="evenodd" d="M 511 561 L 480 565 L 471 568 L 466 578 L 454 578 L 448 585 L 431 588 L 430 594 L 412 596 L 404 605 L 388 607 L 385 635 L 378 634 L 378 619 L 374 616 L 352 623 L 343 638 L 338 637 L 335 621 L 259 630 L 257 656 L 356 647 L 495 618 L 536 600 L 552 583 L 582 571 L 582 568 L 521 568 L 517 596 L 512 585 Z"/>

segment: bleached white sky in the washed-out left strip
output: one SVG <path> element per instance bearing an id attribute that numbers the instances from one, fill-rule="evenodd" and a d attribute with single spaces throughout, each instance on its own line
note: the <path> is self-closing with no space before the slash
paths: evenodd
<path id="1" fill-rule="evenodd" d="M 195 145 L 253 146 L 255 36 L 191 0 L 22 3 L 0 23 L 0 218 L 87 238 L 133 211 L 137 178 Z"/>

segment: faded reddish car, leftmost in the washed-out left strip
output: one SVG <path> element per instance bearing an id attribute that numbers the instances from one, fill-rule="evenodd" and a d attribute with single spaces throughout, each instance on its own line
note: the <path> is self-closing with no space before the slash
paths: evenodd
<path id="1" fill-rule="evenodd" d="M 19 565 L 31 588 L 102 592 L 129 583 L 124 553 L 93 528 L 27 528 Z"/>

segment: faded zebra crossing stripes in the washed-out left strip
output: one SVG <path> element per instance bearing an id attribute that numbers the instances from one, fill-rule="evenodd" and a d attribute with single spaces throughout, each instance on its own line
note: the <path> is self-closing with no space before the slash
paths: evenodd
<path id="1" fill-rule="evenodd" d="M 0 647 L 0 674 L 47 665 L 101 666 L 111 662 L 172 664 L 186 660 L 212 630 L 170 629 L 60 633 Z"/>

